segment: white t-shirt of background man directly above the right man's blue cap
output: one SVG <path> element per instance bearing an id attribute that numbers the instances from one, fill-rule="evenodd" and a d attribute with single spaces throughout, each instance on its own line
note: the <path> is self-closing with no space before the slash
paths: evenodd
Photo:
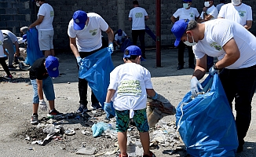
<path id="1" fill-rule="evenodd" d="M 198 10 L 196 8 L 190 7 L 189 9 L 180 8 L 173 14 L 175 18 L 179 17 L 181 19 L 195 20 L 199 16 Z"/>

